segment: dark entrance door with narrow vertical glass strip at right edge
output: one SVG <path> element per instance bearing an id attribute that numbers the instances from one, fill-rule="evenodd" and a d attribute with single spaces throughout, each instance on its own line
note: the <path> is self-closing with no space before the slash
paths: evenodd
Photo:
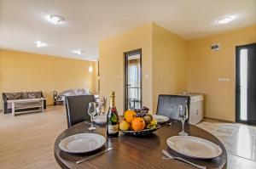
<path id="1" fill-rule="evenodd" d="M 236 47 L 236 121 L 256 124 L 256 43 Z"/>

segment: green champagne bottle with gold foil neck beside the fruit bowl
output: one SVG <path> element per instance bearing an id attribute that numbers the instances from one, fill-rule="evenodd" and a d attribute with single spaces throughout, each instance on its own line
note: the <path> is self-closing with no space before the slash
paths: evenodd
<path id="1" fill-rule="evenodd" d="M 108 137 L 119 136 L 119 115 L 114 104 L 114 92 L 110 93 L 110 106 L 107 115 L 107 135 Z"/>

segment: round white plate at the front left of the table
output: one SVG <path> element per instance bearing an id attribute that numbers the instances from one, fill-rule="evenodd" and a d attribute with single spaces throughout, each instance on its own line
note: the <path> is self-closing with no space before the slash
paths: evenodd
<path id="1" fill-rule="evenodd" d="M 95 133 L 79 133 L 64 138 L 59 147 L 67 153 L 88 153 L 100 149 L 106 142 L 106 138 Z"/>

